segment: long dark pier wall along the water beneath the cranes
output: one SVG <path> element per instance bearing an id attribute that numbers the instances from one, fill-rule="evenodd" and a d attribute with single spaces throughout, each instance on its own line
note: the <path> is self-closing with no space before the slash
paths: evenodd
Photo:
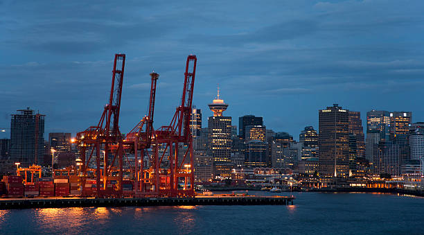
<path id="1" fill-rule="evenodd" d="M 294 197 L 196 197 L 196 198 L 30 198 L 2 199 L 0 209 L 62 207 L 149 207 L 196 205 L 289 205 Z"/>

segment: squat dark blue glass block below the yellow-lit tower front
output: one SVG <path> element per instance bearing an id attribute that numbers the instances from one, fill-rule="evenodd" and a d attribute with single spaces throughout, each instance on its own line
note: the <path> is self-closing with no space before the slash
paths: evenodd
<path id="1" fill-rule="evenodd" d="M 265 141 L 251 140 L 245 143 L 245 165 L 252 168 L 268 166 L 267 149 Z"/>

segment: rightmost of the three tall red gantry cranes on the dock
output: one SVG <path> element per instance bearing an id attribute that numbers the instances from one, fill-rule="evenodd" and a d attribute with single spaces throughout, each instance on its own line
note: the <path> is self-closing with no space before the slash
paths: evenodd
<path id="1" fill-rule="evenodd" d="M 156 143 L 153 151 L 153 165 L 156 173 L 154 189 L 161 196 L 193 197 L 195 195 L 193 139 L 189 124 L 196 62 L 197 58 L 195 55 L 188 55 L 181 105 L 177 107 L 170 125 L 162 126 L 154 132 L 154 141 Z M 158 153 L 159 146 L 163 150 L 160 155 Z M 168 153 L 168 167 L 159 168 L 165 165 L 163 160 L 166 153 Z M 180 159 L 179 156 L 182 156 L 182 158 Z M 181 184 L 184 184 L 184 186 Z"/>

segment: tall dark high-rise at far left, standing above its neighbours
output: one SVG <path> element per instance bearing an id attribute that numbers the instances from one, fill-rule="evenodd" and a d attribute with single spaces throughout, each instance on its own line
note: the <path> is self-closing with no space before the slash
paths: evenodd
<path id="1" fill-rule="evenodd" d="M 44 153 L 44 116 L 29 107 L 12 114 L 10 125 L 10 161 L 21 167 L 42 164 Z"/>

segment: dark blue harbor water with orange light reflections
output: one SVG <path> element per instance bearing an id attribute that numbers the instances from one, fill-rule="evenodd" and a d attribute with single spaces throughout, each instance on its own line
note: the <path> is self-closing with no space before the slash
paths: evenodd
<path id="1" fill-rule="evenodd" d="M 0 234 L 424 233 L 424 198 L 372 193 L 292 194 L 296 197 L 293 206 L 0 210 Z"/>

